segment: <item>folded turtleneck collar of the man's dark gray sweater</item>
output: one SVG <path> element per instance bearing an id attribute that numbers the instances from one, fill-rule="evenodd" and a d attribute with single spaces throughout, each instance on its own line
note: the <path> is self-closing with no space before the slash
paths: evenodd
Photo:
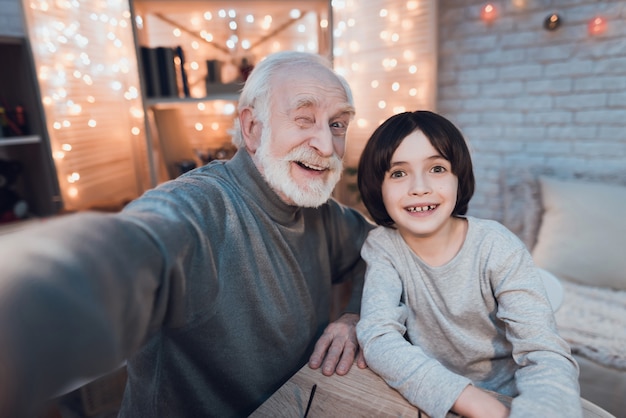
<path id="1" fill-rule="evenodd" d="M 265 178 L 254 164 L 250 154 L 243 148 L 237 150 L 228 161 L 231 178 L 273 220 L 285 224 L 295 221 L 301 212 L 298 206 L 283 202 L 278 194 L 265 181 Z"/>

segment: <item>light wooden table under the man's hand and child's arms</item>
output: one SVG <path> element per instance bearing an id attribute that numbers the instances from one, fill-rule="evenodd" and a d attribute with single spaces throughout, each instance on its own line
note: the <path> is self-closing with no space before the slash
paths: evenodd
<path id="1" fill-rule="evenodd" d="M 307 418 L 319 417 L 423 417 L 424 412 L 411 405 L 400 393 L 368 369 L 356 364 L 348 374 L 324 376 L 320 369 L 305 365 L 276 391 L 251 418 L 303 417 L 313 385 L 315 396 Z M 490 392 L 491 393 L 491 392 Z M 510 405 L 510 398 L 494 394 L 501 402 Z M 607 418 L 613 415 L 582 399 L 585 418 Z M 447 418 L 459 417 L 448 413 Z M 613 417 L 615 418 L 615 417 Z"/>

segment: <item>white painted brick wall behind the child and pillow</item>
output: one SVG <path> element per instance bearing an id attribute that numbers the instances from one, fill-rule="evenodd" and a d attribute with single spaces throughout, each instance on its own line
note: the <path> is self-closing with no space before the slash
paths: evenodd
<path id="1" fill-rule="evenodd" d="M 437 110 L 474 153 L 470 213 L 502 219 L 500 177 L 511 167 L 625 178 L 626 1 L 492 3 L 500 17 L 485 25 L 485 1 L 439 1 Z M 552 12 L 563 24 L 548 32 Z M 608 30 L 592 37 L 595 14 Z"/>

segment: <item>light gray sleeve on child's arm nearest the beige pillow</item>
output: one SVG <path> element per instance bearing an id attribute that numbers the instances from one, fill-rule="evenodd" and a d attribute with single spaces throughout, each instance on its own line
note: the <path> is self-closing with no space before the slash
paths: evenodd
<path id="1" fill-rule="evenodd" d="M 559 336 L 537 269 L 519 249 L 491 272 L 497 317 L 519 366 L 511 417 L 580 417 L 578 365 Z"/>

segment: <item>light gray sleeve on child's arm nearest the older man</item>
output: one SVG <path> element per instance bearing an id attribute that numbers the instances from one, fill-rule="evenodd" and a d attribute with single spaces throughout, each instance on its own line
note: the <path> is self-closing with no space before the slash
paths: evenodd
<path id="1" fill-rule="evenodd" d="M 389 386 L 432 418 L 443 418 L 471 382 L 405 338 L 408 308 L 389 248 L 370 234 L 361 251 L 367 272 L 357 325 L 359 343 L 369 367 Z"/>

